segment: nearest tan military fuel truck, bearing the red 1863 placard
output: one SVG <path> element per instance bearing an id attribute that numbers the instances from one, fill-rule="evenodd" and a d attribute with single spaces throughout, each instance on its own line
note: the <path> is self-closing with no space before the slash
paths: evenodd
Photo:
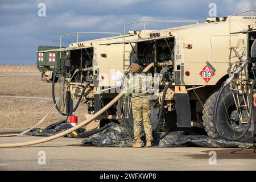
<path id="1" fill-rule="evenodd" d="M 249 126 L 255 112 L 250 112 L 254 109 L 249 93 L 255 80 L 253 12 L 208 18 L 205 23 L 152 31 L 113 43 L 132 44 L 131 63 L 154 63 L 151 73 L 169 67 L 159 86 L 159 114 L 151 113 L 153 125 L 164 131 L 204 127 L 209 136 L 228 140 L 252 137 L 255 125 Z M 246 13 L 250 15 L 243 15 Z M 252 59 L 248 61 L 248 57 Z M 121 102 L 117 109 L 132 128 L 130 98 Z"/>

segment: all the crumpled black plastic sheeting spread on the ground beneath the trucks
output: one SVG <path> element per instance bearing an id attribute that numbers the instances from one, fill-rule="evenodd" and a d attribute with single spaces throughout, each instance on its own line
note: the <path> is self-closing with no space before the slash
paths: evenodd
<path id="1" fill-rule="evenodd" d="M 49 137 L 60 133 L 61 131 L 71 128 L 72 125 L 64 121 L 53 123 L 45 129 L 33 129 L 28 133 L 32 136 Z M 73 131 L 66 137 L 84 138 L 82 145 L 84 146 L 101 146 L 101 147 L 131 147 L 133 138 L 129 131 L 117 123 L 109 123 L 100 129 L 85 130 L 80 128 Z M 145 137 L 142 137 L 142 143 L 145 143 Z M 212 138 L 196 133 L 188 133 L 184 131 L 174 131 L 171 133 L 154 133 L 153 147 L 242 147 L 251 148 L 252 143 L 230 142 L 222 138 Z"/>

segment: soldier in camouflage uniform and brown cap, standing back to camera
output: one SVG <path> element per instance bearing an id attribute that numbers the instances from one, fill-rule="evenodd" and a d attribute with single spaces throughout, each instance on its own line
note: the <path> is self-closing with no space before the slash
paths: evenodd
<path id="1" fill-rule="evenodd" d="M 139 64 L 131 64 L 130 71 L 133 76 L 129 79 L 126 86 L 126 96 L 131 94 L 133 119 L 134 119 L 134 139 L 133 147 L 142 147 L 141 145 L 141 125 L 143 119 L 144 131 L 146 134 L 146 147 L 151 147 L 152 126 L 150 121 L 150 93 L 149 90 L 155 79 L 141 73 Z M 162 75 L 159 75 L 158 82 L 162 81 Z"/>

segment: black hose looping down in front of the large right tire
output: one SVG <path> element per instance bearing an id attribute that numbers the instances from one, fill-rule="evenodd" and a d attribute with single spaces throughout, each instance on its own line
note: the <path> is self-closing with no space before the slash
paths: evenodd
<path id="1" fill-rule="evenodd" d="M 245 135 L 248 132 L 250 125 L 251 125 L 251 117 L 252 117 L 252 113 L 253 113 L 253 88 L 254 88 L 255 83 L 256 83 L 256 79 L 253 80 L 253 84 L 251 85 L 251 88 L 250 88 L 250 101 L 249 101 L 250 115 L 249 115 L 249 118 L 247 119 L 246 129 L 245 129 L 245 131 L 243 131 L 243 133 L 241 135 L 239 135 L 238 137 L 234 137 L 234 138 L 222 135 L 222 133 L 220 132 L 220 130 L 218 129 L 218 126 L 217 126 L 216 119 L 217 119 L 218 103 L 220 102 L 220 98 L 221 98 L 221 94 L 222 94 L 223 90 L 229 84 L 225 84 L 225 86 L 221 87 L 220 92 L 218 93 L 217 100 L 216 100 L 216 105 L 214 107 L 214 115 L 213 115 L 214 122 L 213 122 L 213 124 L 215 125 L 218 133 L 221 135 L 222 138 L 229 140 L 229 141 L 237 141 L 237 140 L 240 140 L 241 138 L 245 137 Z"/>

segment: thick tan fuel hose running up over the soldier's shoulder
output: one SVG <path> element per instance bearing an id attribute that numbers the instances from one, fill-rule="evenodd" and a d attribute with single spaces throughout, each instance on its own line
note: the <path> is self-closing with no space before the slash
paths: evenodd
<path id="1" fill-rule="evenodd" d="M 152 67 L 154 67 L 154 63 L 147 65 L 147 67 L 143 69 L 143 72 L 147 72 Z M 113 104 L 115 104 L 115 102 L 117 102 L 121 97 L 123 97 L 124 94 L 125 94 L 125 92 L 122 91 L 115 98 L 113 98 L 113 100 L 111 102 L 109 102 L 107 105 L 102 107 L 101 110 L 99 110 L 97 113 L 93 114 L 92 117 L 90 117 L 89 119 L 86 119 L 85 121 L 79 123 L 77 126 L 74 126 L 74 127 L 70 128 L 68 130 L 65 130 L 65 131 L 63 131 L 61 133 L 58 133 L 56 135 L 52 135 L 51 137 L 37 139 L 37 140 L 32 140 L 32 141 L 28 141 L 28 142 L 1 143 L 0 144 L 0 148 L 31 146 L 33 144 L 49 142 L 51 140 L 63 137 L 65 135 L 69 134 L 69 133 L 72 133 L 72 131 L 80 129 L 80 127 L 82 127 L 82 126 L 88 125 L 90 122 L 92 122 L 94 119 L 96 119 L 102 113 L 104 113 L 107 109 L 109 109 Z"/>

